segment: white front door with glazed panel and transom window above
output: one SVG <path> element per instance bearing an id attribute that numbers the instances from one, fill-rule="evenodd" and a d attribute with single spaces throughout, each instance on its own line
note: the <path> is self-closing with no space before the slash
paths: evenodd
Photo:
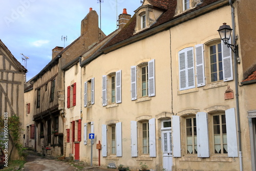
<path id="1" fill-rule="evenodd" d="M 169 122 L 163 121 L 163 122 Z M 166 124 L 165 124 L 166 125 Z M 170 124 L 168 124 L 170 126 Z M 172 131 L 171 127 L 165 127 L 162 124 L 162 152 L 163 152 L 163 168 L 166 171 L 171 171 L 173 166 L 173 152 L 172 152 Z"/>

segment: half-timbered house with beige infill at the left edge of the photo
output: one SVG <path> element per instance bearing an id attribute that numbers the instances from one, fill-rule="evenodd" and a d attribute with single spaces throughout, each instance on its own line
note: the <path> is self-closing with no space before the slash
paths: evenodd
<path id="1" fill-rule="evenodd" d="M 8 117 L 16 115 L 22 124 L 24 121 L 23 104 L 26 72 L 27 70 L 15 59 L 4 42 L 0 40 L 0 115 L 1 117 L 4 117 L 4 114 L 8 114 Z M 22 138 L 20 139 L 20 143 L 22 143 Z M 13 145 L 11 137 L 9 139 L 8 153 L 10 155 Z M 12 151 L 12 157 L 17 157 L 15 148 Z"/>

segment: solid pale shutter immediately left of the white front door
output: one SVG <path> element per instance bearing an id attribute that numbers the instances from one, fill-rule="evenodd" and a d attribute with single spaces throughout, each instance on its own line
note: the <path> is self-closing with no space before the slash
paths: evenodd
<path id="1" fill-rule="evenodd" d="M 150 129 L 150 157 L 156 156 L 156 119 L 152 118 L 149 120 Z"/>

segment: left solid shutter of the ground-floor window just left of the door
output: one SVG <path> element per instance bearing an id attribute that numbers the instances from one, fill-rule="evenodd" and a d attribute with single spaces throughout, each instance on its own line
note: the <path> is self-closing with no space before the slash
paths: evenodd
<path id="1" fill-rule="evenodd" d="M 137 122 L 136 121 L 131 121 L 131 149 L 132 149 L 132 157 L 138 157 Z"/>

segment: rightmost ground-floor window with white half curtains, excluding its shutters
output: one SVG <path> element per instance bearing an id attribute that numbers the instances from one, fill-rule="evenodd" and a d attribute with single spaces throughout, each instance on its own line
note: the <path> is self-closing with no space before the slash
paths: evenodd
<path id="1" fill-rule="evenodd" d="M 225 114 L 213 116 L 214 153 L 227 154 L 227 131 Z"/>

